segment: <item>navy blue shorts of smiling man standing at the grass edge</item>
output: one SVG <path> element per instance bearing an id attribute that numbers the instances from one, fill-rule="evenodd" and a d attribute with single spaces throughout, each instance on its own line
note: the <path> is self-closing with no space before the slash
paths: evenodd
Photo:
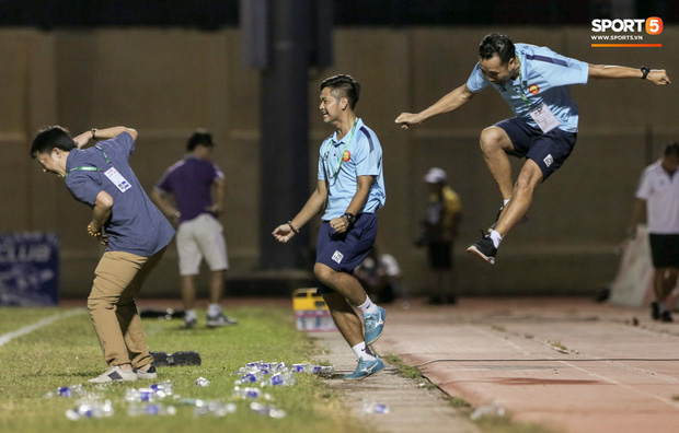
<path id="1" fill-rule="evenodd" d="M 354 273 L 354 268 L 360 265 L 372 249 L 376 238 L 376 213 L 358 214 L 354 226 L 342 234 L 335 233 L 330 221 L 323 221 L 319 231 L 315 261 L 338 272 Z M 327 291 L 332 289 L 319 283 L 319 294 Z"/>

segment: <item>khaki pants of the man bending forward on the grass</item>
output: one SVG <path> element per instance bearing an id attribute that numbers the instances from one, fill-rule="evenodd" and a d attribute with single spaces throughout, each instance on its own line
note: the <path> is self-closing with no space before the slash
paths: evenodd
<path id="1" fill-rule="evenodd" d="M 135 297 L 165 248 L 151 257 L 106 251 L 94 270 L 88 309 L 108 366 L 131 364 L 140 368 L 153 362 Z"/>

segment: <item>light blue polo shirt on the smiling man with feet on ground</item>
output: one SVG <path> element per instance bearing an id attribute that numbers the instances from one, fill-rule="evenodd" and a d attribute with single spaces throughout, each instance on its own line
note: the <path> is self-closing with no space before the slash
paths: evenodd
<path id="1" fill-rule="evenodd" d="M 384 206 L 387 199 L 380 140 L 360 118 L 356 119 L 356 129 L 350 139 L 349 136 L 352 132 L 337 140 L 335 131 L 321 144 L 319 180 L 326 180 L 329 188 L 323 221 L 340 218 L 346 212 L 356 195 L 358 176 L 372 176 L 370 195 L 359 213 L 375 213 Z"/>

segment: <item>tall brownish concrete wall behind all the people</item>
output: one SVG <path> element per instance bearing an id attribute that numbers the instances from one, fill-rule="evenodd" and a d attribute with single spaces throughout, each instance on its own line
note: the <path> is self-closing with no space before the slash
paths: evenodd
<path id="1" fill-rule="evenodd" d="M 335 66 L 309 77 L 314 107 L 309 113 L 310 179 L 313 185 L 319 143 L 331 132 L 315 109 L 318 84 L 331 74 L 350 73 L 362 86 L 359 115 L 384 150 L 388 199 L 380 212 L 378 245 L 396 256 L 412 293 L 427 289 L 425 251 L 413 242 L 426 202 L 422 176 L 434 165 L 448 171 L 463 203 L 456 245 L 460 293 L 594 293 L 614 276 L 614 247 L 648 162 L 647 143 L 656 155 L 664 142 L 679 138 L 672 86 L 641 80 L 574 86 L 580 109 L 576 149 L 539 188 L 530 223 L 506 237 L 496 266 L 485 266 L 464 254 L 500 203 L 477 140 L 484 127 L 510 116 L 508 106 L 488 91 L 457 113 L 410 131 L 396 128 L 393 119 L 403 110 L 427 107 L 464 83 L 479 40 L 492 31 L 589 62 L 661 67 L 670 78 L 679 70 L 679 54 L 671 45 L 677 32 L 667 27 L 657 36 L 665 47 L 628 49 L 591 48 L 588 28 L 338 28 Z M 65 294 L 88 293 L 100 248 L 85 234 L 90 210 L 70 197 L 61 180 L 43 175 L 27 155 L 35 130 L 51 124 L 74 133 L 93 126 L 136 128 L 140 136 L 131 164 L 148 190 L 182 157 L 193 129 L 209 128 L 229 186 L 229 211 L 222 222 L 232 274 L 256 271 L 257 218 L 266 211 L 258 202 L 257 175 L 263 95 L 258 72 L 241 66 L 239 49 L 235 30 L 0 32 L 0 231 L 59 233 Z M 516 161 L 514 167 L 520 164 Z M 304 230 L 317 227 L 313 223 Z M 171 249 L 146 293 L 177 293 L 177 286 L 176 253 Z"/>

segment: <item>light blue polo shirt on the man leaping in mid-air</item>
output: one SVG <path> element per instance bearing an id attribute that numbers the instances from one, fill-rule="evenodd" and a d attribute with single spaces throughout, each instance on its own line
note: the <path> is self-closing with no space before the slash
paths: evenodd
<path id="1" fill-rule="evenodd" d="M 521 60 L 520 75 L 516 80 L 507 81 L 504 85 L 494 84 L 483 75 L 476 63 L 467 81 L 469 90 L 476 93 L 493 86 L 511 106 L 516 117 L 533 128 L 538 128 L 538 124 L 530 117 L 530 113 L 540 108 L 544 102 L 559 119 L 559 129 L 577 132 L 577 106 L 567 86 L 586 84 L 589 65 L 561 56 L 546 47 L 515 44 L 515 48 Z"/>

